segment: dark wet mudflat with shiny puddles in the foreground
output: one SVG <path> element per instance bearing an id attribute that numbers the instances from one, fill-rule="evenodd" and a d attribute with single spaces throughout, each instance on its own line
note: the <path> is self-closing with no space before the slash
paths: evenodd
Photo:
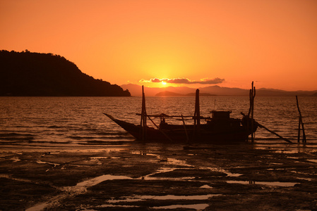
<path id="1" fill-rule="evenodd" d="M 184 146 L 4 151 L 0 210 L 317 210 L 309 147 Z"/>

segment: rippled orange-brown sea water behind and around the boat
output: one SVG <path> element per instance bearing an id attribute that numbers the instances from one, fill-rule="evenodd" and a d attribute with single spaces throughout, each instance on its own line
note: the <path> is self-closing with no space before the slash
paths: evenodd
<path id="1" fill-rule="evenodd" d="M 148 114 L 193 115 L 194 97 L 147 97 Z M 139 124 L 140 97 L 1 97 L 0 146 L 9 148 L 94 148 L 133 141 L 102 113 Z M 317 97 L 299 97 L 308 143 L 317 144 Z M 201 115 L 232 110 L 248 113 L 248 97 L 201 97 Z M 295 97 L 256 97 L 255 118 L 297 143 Z M 182 124 L 179 120 L 174 123 Z M 170 122 L 170 121 L 169 121 Z M 191 123 L 188 121 L 188 123 Z M 150 124 L 150 123 L 149 123 Z M 256 143 L 286 143 L 258 129 Z"/>

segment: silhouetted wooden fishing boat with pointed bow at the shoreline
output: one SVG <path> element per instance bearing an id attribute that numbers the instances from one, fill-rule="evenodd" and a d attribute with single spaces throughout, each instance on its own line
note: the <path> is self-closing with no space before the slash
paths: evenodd
<path id="1" fill-rule="evenodd" d="M 230 111 L 212 110 L 211 117 L 203 117 L 199 110 L 199 90 L 196 91 L 195 113 L 193 116 L 147 115 L 145 110 L 145 95 L 143 91 L 142 113 L 139 114 L 140 124 L 132 124 L 118 120 L 104 113 L 119 124 L 129 134 L 141 141 L 156 142 L 191 142 L 191 143 L 234 143 L 246 141 L 250 134 L 256 132 L 257 124 L 248 116 L 241 119 L 231 118 Z M 160 117 L 160 124 L 152 121 L 152 117 Z M 184 117 L 191 118 L 193 124 L 185 124 Z M 168 124 L 167 118 L 179 118 L 183 124 Z M 147 119 L 155 127 L 148 127 Z M 205 122 L 201 124 L 201 120 Z"/>

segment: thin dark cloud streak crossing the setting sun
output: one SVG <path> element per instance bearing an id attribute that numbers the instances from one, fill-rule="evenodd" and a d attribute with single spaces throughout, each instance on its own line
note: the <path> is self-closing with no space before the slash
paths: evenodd
<path id="1" fill-rule="evenodd" d="M 174 78 L 174 79 L 158 79 L 158 78 L 151 78 L 149 80 L 145 80 L 145 79 L 140 79 L 139 82 L 141 83 L 148 83 L 148 82 L 152 82 L 152 83 L 160 83 L 160 82 L 166 82 L 169 84 L 221 84 L 222 82 L 224 82 L 225 79 L 220 79 L 219 77 L 215 77 L 214 79 L 201 79 L 199 81 L 192 81 L 191 79 L 188 78 Z"/>

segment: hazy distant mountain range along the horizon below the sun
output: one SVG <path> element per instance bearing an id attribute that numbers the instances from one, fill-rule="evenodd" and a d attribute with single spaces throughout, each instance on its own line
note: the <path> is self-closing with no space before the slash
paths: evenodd
<path id="1" fill-rule="evenodd" d="M 141 96 L 142 87 L 136 84 L 121 85 L 132 96 Z M 228 88 L 220 86 L 201 87 L 201 96 L 249 96 L 249 89 Z M 196 89 L 189 87 L 144 87 L 146 96 L 194 96 Z M 256 89 L 256 96 L 317 96 L 316 91 L 284 91 L 280 89 Z"/>

